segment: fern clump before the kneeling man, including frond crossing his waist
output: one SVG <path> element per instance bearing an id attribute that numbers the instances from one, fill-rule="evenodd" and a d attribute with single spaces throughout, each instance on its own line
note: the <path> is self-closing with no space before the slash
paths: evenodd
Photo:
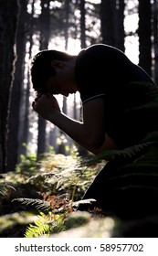
<path id="1" fill-rule="evenodd" d="M 87 203 L 80 198 L 107 161 L 124 159 L 129 162 L 129 159 L 142 155 L 151 144 L 147 140 L 124 150 L 106 151 L 84 159 L 53 152 L 43 155 L 38 161 L 34 155 L 22 156 L 16 175 L 23 177 L 23 182 L 38 192 L 37 197 L 16 197 L 13 203 L 19 202 L 29 210 L 31 206 L 32 211 L 40 211 L 35 222 L 26 227 L 25 237 L 49 236 L 68 229 L 68 214 L 73 213 L 79 204 Z"/>

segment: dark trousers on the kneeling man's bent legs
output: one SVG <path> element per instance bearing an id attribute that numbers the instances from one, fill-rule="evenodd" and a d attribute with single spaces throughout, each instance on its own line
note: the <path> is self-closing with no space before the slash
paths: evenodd
<path id="1" fill-rule="evenodd" d="M 115 157 L 96 176 L 79 210 L 100 208 L 105 215 L 141 219 L 158 214 L 158 147 L 149 146 L 129 159 Z"/>

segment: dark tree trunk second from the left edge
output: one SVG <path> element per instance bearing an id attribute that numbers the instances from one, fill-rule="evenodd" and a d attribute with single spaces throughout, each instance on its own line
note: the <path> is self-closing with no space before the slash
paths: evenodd
<path id="1" fill-rule="evenodd" d="M 19 112 L 22 96 L 22 84 L 24 78 L 24 59 L 26 51 L 26 5 L 27 1 L 20 1 L 19 22 L 16 40 L 16 71 L 13 88 L 11 91 L 10 112 L 8 120 L 7 138 L 7 165 L 6 169 L 14 170 L 18 162 L 18 131 L 19 131 Z"/>

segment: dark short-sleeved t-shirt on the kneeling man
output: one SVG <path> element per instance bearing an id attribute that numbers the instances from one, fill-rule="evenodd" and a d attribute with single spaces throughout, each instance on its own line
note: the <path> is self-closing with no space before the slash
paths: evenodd
<path id="1" fill-rule="evenodd" d="M 107 45 L 82 50 L 75 72 L 83 104 L 104 99 L 105 132 L 119 148 L 139 144 L 158 130 L 157 87 L 121 50 Z"/>

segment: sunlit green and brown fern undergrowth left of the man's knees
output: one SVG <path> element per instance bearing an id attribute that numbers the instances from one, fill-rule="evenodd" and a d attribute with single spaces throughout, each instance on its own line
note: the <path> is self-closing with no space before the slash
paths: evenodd
<path id="1" fill-rule="evenodd" d="M 5 185 L 0 183 L 0 204 L 3 207 L 6 192 L 13 187 L 8 203 L 36 214 L 35 221 L 26 226 L 24 237 L 58 233 L 67 229 L 68 214 L 85 203 L 81 197 L 102 165 L 83 167 L 76 155 L 47 153 L 38 161 L 35 155 L 22 155 L 16 172 L 3 175 Z"/>

